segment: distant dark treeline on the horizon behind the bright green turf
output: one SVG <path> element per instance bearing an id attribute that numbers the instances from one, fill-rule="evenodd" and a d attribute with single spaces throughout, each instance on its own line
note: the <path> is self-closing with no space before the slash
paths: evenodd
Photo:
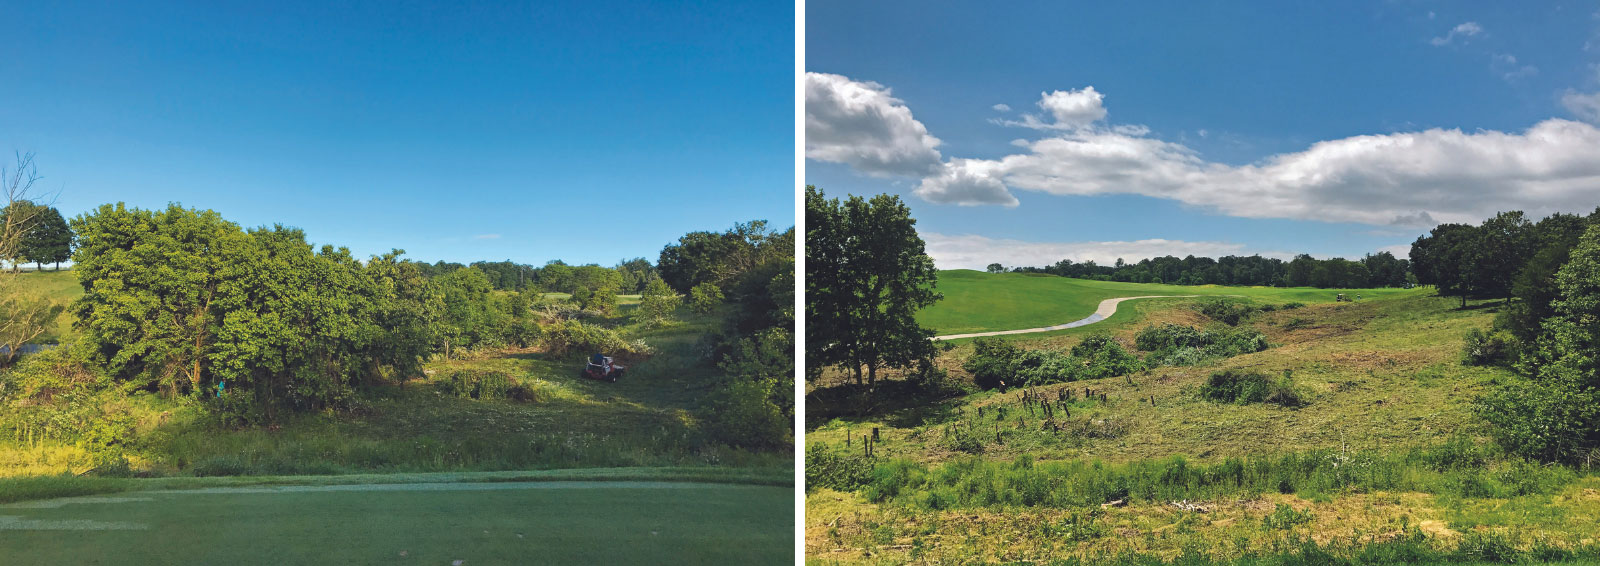
<path id="1" fill-rule="evenodd" d="M 990 264 L 989 272 L 1003 270 Z M 1315 259 L 1299 254 L 1293 261 L 1261 256 L 1176 257 L 1162 256 L 1125 264 L 1098 265 L 1062 259 L 1048 267 L 1013 267 L 1019 273 L 1051 273 L 1099 281 L 1170 283 L 1170 285 L 1254 285 L 1315 288 L 1378 288 L 1414 283 L 1411 262 L 1387 251 L 1366 254 L 1360 261 L 1344 257 Z"/>

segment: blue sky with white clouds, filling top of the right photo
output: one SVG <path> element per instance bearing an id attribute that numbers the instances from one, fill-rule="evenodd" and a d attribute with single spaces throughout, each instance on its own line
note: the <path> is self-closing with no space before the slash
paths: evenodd
<path id="1" fill-rule="evenodd" d="M 805 181 L 941 267 L 1358 257 L 1600 206 L 1600 2 L 806 3 Z"/>

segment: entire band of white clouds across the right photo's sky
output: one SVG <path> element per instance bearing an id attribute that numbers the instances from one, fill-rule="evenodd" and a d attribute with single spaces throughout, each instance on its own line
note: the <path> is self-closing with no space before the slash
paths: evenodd
<path id="1" fill-rule="evenodd" d="M 813 77 L 822 77 L 818 82 L 827 86 L 818 88 L 822 94 L 818 112 L 811 101 Z M 848 163 L 872 176 L 920 177 L 914 193 L 942 205 L 1018 206 L 1013 190 L 1123 193 L 1237 217 L 1426 229 L 1437 222 L 1478 222 L 1506 209 L 1533 216 L 1587 213 L 1600 197 L 1600 130 L 1562 118 L 1547 118 L 1522 133 L 1432 128 L 1350 136 L 1234 166 L 1208 161 L 1182 142 L 1152 138 L 1142 125 L 1107 123 L 1104 94 L 1085 86 L 1042 93 L 1038 106 L 1048 117 L 990 120 L 1046 131 L 1042 139 L 1011 142 L 1022 150 L 992 160 L 941 161 L 938 139 L 912 118 L 904 102 L 888 96 L 888 88 L 808 74 L 806 93 L 808 158 Z M 837 102 L 842 99 L 856 102 Z M 1600 123 L 1600 94 L 1568 93 L 1563 104 L 1574 115 Z M 834 117 L 843 123 L 832 123 Z M 813 131 L 830 136 L 814 144 Z M 856 131 L 894 134 L 840 134 Z M 891 142 L 872 145 L 878 139 Z"/>

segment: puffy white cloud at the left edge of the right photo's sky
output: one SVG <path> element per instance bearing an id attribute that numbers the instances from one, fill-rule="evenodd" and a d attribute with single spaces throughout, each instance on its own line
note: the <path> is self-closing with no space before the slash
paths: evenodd
<path id="1" fill-rule="evenodd" d="M 805 75 L 805 157 L 870 176 L 920 177 L 939 169 L 939 139 L 874 82 Z"/>

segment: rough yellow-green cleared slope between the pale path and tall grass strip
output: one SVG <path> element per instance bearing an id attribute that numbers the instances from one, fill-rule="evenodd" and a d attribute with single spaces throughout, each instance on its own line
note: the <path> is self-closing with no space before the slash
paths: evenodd
<path id="1" fill-rule="evenodd" d="M 1064 350 L 1088 331 L 1110 331 L 1131 344 L 1133 334 L 1152 323 L 1203 325 L 1205 318 L 1186 305 L 1192 301 L 1141 305 L 1117 326 L 1107 321 L 1102 328 L 1075 329 L 1072 334 L 1027 334 L 1013 341 L 1024 347 Z M 1035 389 L 1045 398 L 1054 398 L 1061 389 L 1074 390 L 1080 401 L 1072 417 L 1122 424 L 1126 433 L 1118 438 L 1085 440 L 1040 432 L 1038 417 L 1021 405 L 1022 390 L 1013 390 L 984 392 L 933 409 L 840 419 L 808 432 L 806 441 L 843 443 L 846 430 L 859 435 L 869 427 L 880 427 L 888 438 L 878 446 L 880 454 L 942 460 L 954 456 L 941 443 L 942 428 L 960 422 L 984 432 L 989 440 L 995 432 L 1006 436 L 1005 443 L 986 446 L 986 454 L 998 457 L 1032 454 L 1040 459 L 1128 460 L 1187 454 L 1218 459 L 1341 443 L 1360 448 L 1437 443 L 1472 430 L 1472 398 L 1501 374 L 1501 369 L 1456 363 L 1461 336 L 1470 328 L 1486 326 L 1493 313 L 1453 307 L 1451 299 L 1400 294 L 1362 304 L 1274 312 L 1250 323 L 1278 344 L 1266 352 L 1208 366 L 1157 368 L 1126 377 Z M 1294 326 L 1290 325 L 1294 320 L 1302 320 L 1304 326 L 1286 329 Z M 970 352 L 970 345 L 962 345 L 941 361 L 965 377 L 958 360 Z M 1298 384 L 1312 393 L 1310 406 L 1218 405 L 1195 395 L 1213 371 L 1234 368 L 1274 376 L 1293 369 Z M 1083 401 L 1085 387 L 1104 392 L 1107 403 Z M 1150 406 L 1150 397 L 1155 406 Z M 1008 421 L 997 421 L 992 409 L 979 419 L 978 406 L 1006 408 Z M 1018 427 L 1018 416 L 1024 419 L 1022 427 Z"/>

